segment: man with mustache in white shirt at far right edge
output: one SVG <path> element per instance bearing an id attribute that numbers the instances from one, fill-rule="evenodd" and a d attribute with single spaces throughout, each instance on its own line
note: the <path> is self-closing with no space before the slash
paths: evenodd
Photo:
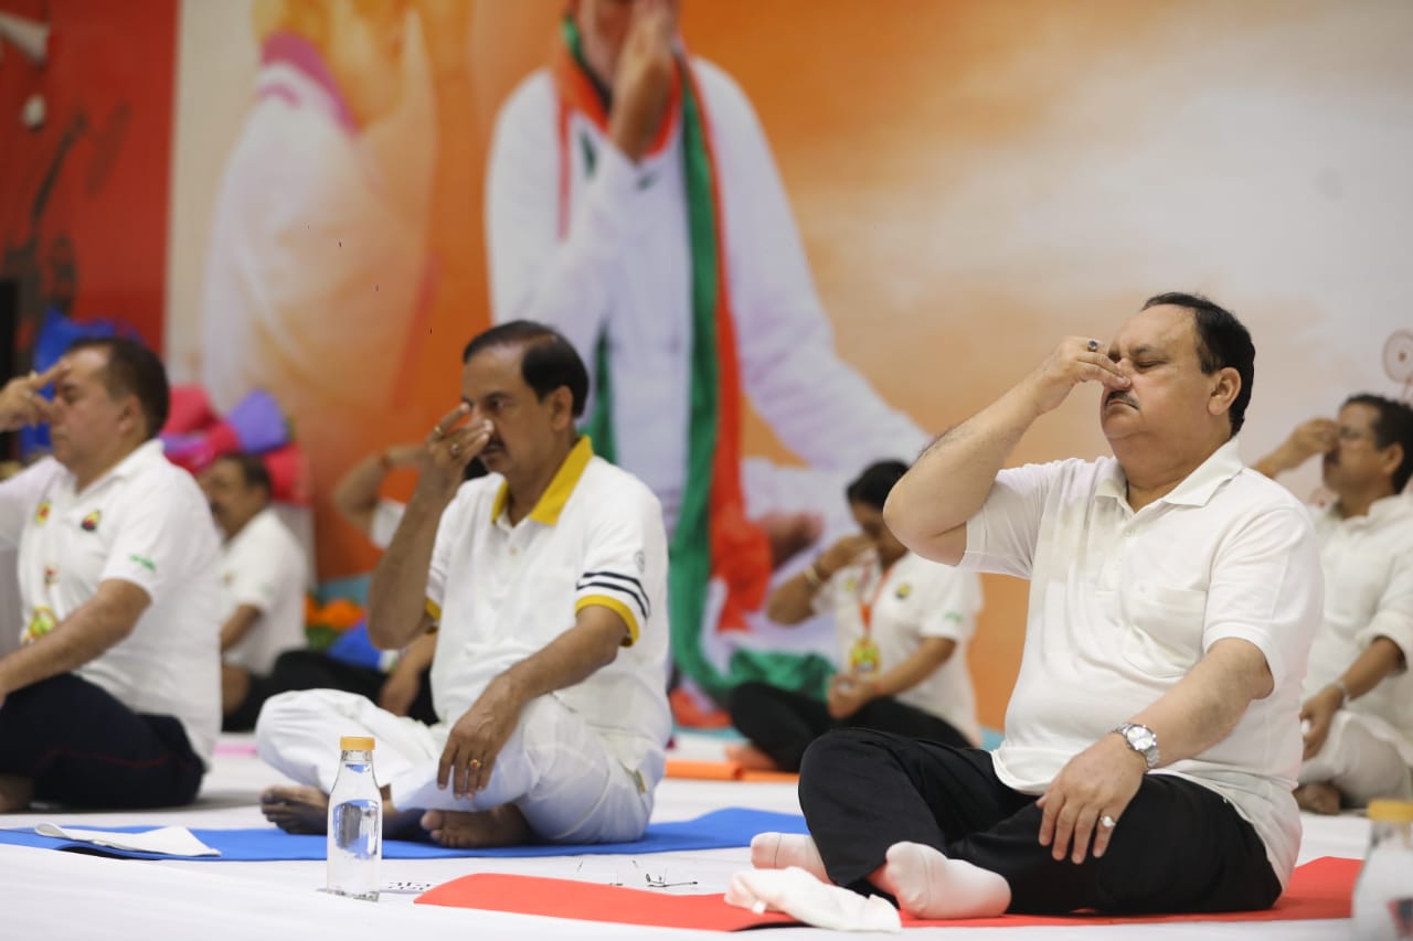
<path id="1" fill-rule="evenodd" d="M 1413 797 L 1413 408 L 1351 396 L 1337 420 L 1303 422 L 1256 463 L 1269 476 L 1321 455 L 1335 500 L 1314 513 L 1324 625 L 1310 650 L 1296 803 L 1335 814 Z"/>

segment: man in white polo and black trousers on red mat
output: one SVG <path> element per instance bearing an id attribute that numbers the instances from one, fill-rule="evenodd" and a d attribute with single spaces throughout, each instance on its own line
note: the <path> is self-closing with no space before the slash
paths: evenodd
<path id="1" fill-rule="evenodd" d="M 810 838 L 757 838 L 934 918 L 1269 907 L 1296 863 L 1300 681 L 1321 574 L 1304 507 L 1242 466 L 1246 328 L 1145 304 L 1068 338 L 938 438 L 889 496 L 913 551 L 1030 579 L 995 754 L 835 732 L 805 753 Z M 1082 381 L 1113 459 L 1002 469 Z"/>

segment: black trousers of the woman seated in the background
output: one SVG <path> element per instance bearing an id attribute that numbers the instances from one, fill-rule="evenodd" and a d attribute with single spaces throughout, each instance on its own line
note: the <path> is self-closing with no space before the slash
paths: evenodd
<path id="1" fill-rule="evenodd" d="M 743 682 L 731 691 L 731 722 L 786 771 L 798 771 L 804 750 L 829 729 L 876 729 L 910 739 L 966 747 L 951 723 L 897 699 L 873 699 L 845 719 L 835 719 L 814 699 L 769 682 Z"/>

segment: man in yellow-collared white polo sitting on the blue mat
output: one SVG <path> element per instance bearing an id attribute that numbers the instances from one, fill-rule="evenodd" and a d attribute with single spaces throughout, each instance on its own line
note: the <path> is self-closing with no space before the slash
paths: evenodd
<path id="1" fill-rule="evenodd" d="M 671 725 L 661 510 L 575 431 L 588 373 L 557 332 L 503 324 L 463 363 L 462 404 L 425 442 L 369 592 L 382 647 L 439 623 L 439 721 L 348 692 L 271 698 L 260 756 L 304 786 L 268 788 L 263 810 L 322 829 L 338 739 L 362 732 L 379 740 L 390 832 L 420 822 L 455 846 L 636 839 Z M 478 455 L 490 475 L 463 482 Z"/>

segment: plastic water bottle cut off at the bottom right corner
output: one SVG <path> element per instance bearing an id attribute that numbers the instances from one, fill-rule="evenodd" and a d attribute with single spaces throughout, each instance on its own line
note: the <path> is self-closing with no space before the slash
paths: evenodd
<path id="1" fill-rule="evenodd" d="M 1354 884 L 1355 941 L 1413 937 L 1413 801 L 1369 801 L 1369 824 Z"/>

